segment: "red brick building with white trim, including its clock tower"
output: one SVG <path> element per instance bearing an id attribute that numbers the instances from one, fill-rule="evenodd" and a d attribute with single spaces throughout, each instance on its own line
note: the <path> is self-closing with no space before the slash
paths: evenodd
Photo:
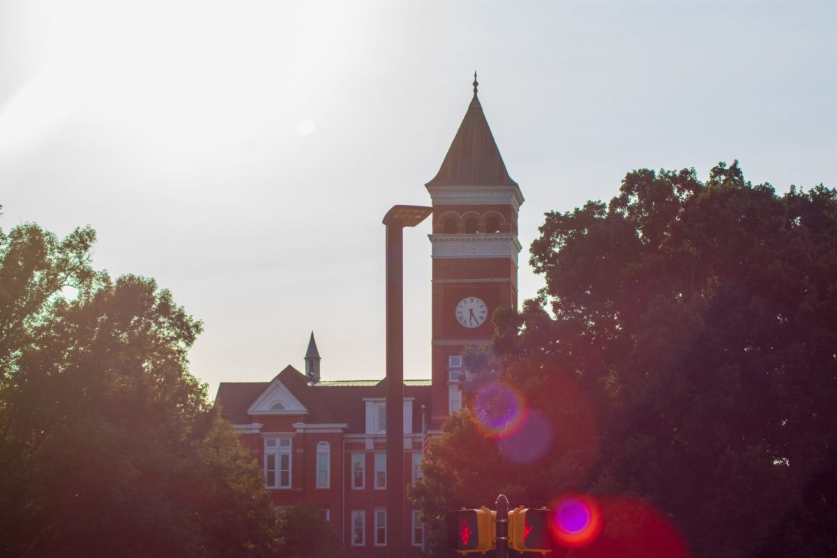
<path id="1" fill-rule="evenodd" d="M 433 204 L 431 380 L 404 381 L 404 479 L 421 476 L 422 422 L 438 433 L 461 407 L 466 345 L 484 345 L 498 307 L 517 305 L 517 212 L 511 180 L 474 97 L 442 166 L 426 187 Z M 383 296 L 383 294 L 382 294 Z M 314 334 L 305 374 L 223 382 L 216 403 L 264 471 L 280 507 L 311 504 L 341 535 L 347 555 L 386 554 L 385 381 L 323 381 Z M 382 371 L 383 372 L 383 371 Z M 423 411 L 424 407 L 424 411 Z M 420 550 L 419 512 L 403 513 L 409 555 Z"/>

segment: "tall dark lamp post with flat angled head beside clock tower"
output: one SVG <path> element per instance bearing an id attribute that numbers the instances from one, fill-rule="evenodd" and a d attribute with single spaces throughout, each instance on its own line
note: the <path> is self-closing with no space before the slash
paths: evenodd
<path id="1" fill-rule="evenodd" d="M 403 228 L 415 227 L 433 207 L 393 206 L 387 226 L 387 548 L 404 553 L 404 266 Z"/>

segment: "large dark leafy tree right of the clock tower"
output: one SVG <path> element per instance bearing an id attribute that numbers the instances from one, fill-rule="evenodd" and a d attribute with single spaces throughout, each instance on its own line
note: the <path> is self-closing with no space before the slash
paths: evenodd
<path id="1" fill-rule="evenodd" d="M 537 463 L 555 475 L 543 494 L 570 479 L 650 504 L 695 556 L 761 552 L 790 531 L 810 535 L 786 545 L 797 555 L 828 554 L 816 534 L 837 510 L 815 494 L 833 494 L 822 472 L 837 442 L 834 190 L 778 196 L 737 162 L 705 183 L 690 170 L 633 171 L 608 204 L 549 212 L 540 232 L 530 263 L 546 287 L 520 314 L 495 315 L 495 367 L 554 432 L 567 424 L 556 413 L 580 404 L 595 425 L 594 455 L 557 441 Z M 429 487 L 457 486 L 436 470 L 456 474 L 444 444 Z M 502 458 L 498 444 L 485 451 Z M 530 469 L 524 496 L 542 483 Z M 506 463 L 504 474 L 521 470 Z M 620 527 L 605 525 L 603 541 Z"/>

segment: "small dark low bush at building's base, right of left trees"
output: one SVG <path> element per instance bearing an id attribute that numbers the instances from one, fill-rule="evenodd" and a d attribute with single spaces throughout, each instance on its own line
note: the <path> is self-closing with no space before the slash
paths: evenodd
<path id="1" fill-rule="evenodd" d="M 282 515 L 285 542 L 280 555 L 294 558 L 340 558 L 344 555 L 340 535 L 331 528 L 321 509 L 297 505 Z"/>

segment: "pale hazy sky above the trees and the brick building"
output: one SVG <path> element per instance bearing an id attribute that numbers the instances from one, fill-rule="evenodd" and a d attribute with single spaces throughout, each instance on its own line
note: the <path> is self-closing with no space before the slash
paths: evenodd
<path id="1" fill-rule="evenodd" d="M 521 300 L 543 213 L 626 171 L 738 159 L 837 185 L 837 3 L 0 1 L 5 230 L 90 224 L 94 264 L 171 289 L 192 371 L 384 374 L 384 228 L 429 204 L 474 69 L 521 186 Z M 429 377 L 429 222 L 405 231 L 405 376 Z"/>

